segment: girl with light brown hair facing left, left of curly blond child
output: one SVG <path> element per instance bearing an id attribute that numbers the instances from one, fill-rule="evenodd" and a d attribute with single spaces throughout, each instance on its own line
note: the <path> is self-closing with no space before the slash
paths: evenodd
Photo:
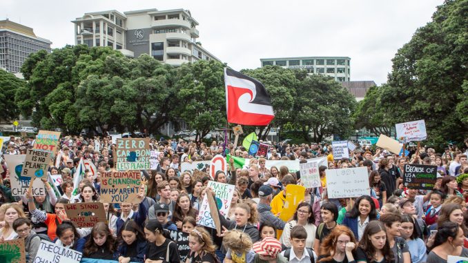
<path id="1" fill-rule="evenodd" d="M 210 234 L 204 228 L 197 226 L 191 231 L 190 235 L 188 235 L 188 246 L 190 246 L 191 252 L 186 259 L 186 263 L 217 262 L 216 246 L 213 244 Z"/>

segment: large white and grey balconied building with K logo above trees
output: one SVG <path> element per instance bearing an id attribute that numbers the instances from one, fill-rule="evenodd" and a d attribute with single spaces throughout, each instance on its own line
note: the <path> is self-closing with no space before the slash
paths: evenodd
<path id="1" fill-rule="evenodd" d="M 75 23 L 75 43 L 110 46 L 128 57 L 153 56 L 173 66 L 217 59 L 197 41 L 198 22 L 184 9 L 85 13 Z"/>

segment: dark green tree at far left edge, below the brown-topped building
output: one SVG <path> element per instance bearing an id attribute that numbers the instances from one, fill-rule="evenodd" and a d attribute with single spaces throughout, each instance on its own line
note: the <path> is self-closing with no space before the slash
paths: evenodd
<path id="1" fill-rule="evenodd" d="M 12 73 L 0 69 L 0 119 L 12 121 L 19 117 L 19 109 L 14 103 L 17 90 L 26 86 L 25 81 L 18 79 Z"/>

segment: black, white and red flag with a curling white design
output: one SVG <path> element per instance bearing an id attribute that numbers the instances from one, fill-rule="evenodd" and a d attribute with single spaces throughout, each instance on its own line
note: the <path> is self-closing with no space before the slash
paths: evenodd
<path id="1" fill-rule="evenodd" d="M 268 125 L 275 117 L 270 96 L 257 79 L 224 68 L 228 122 L 251 126 Z"/>

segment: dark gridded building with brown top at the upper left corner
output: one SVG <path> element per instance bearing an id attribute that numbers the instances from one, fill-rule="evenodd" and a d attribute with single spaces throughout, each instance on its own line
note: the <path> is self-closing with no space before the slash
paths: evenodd
<path id="1" fill-rule="evenodd" d="M 8 19 L 0 21 L 0 68 L 17 73 L 31 53 L 39 50 L 50 52 L 48 39 L 37 37 L 27 26 Z"/>

